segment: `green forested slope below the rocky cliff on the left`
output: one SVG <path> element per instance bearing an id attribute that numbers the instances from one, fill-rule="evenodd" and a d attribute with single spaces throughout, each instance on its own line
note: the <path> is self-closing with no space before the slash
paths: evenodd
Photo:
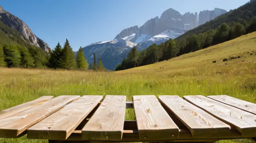
<path id="1" fill-rule="evenodd" d="M 48 59 L 48 53 L 33 46 L 17 30 L 0 20 L 0 66 L 43 68 L 46 67 Z"/>

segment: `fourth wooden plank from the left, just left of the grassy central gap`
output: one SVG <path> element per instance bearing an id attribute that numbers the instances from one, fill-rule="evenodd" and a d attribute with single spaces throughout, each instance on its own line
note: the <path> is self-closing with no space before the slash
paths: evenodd
<path id="1" fill-rule="evenodd" d="M 125 100 L 125 95 L 107 95 L 82 129 L 82 138 L 84 140 L 121 140 Z"/>

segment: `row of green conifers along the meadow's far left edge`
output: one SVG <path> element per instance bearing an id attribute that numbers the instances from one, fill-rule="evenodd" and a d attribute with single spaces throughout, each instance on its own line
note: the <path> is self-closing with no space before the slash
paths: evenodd
<path id="1" fill-rule="evenodd" d="M 99 66 L 96 64 L 94 54 L 93 70 L 105 70 L 101 60 Z M 53 69 L 80 69 L 87 70 L 89 64 L 85 59 L 82 47 L 75 53 L 71 48 L 68 39 L 63 48 L 60 42 L 56 47 L 45 53 L 38 47 L 24 47 L 20 45 L 0 45 L 0 66 L 23 67 L 23 68 L 53 68 Z"/>

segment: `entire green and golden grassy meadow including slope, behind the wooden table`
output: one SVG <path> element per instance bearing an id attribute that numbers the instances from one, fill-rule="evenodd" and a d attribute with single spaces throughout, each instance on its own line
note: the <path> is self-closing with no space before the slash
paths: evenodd
<path id="1" fill-rule="evenodd" d="M 222 60 L 229 57 L 241 58 Z M 213 63 L 212 61 L 216 61 Z M 0 110 L 44 95 L 229 95 L 256 103 L 256 32 L 168 61 L 117 72 L 0 68 Z M 126 110 L 126 120 L 134 120 Z M 47 142 L 0 139 L 5 143 Z M 225 140 L 220 142 L 250 142 Z"/>

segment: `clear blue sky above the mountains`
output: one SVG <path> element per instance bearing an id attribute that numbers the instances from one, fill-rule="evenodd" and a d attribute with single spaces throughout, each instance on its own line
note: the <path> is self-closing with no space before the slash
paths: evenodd
<path id="1" fill-rule="evenodd" d="M 181 14 L 235 9 L 249 0 L 5 0 L 0 5 L 23 20 L 53 49 L 66 38 L 76 51 L 113 40 L 123 29 L 142 26 L 173 8 Z"/>

